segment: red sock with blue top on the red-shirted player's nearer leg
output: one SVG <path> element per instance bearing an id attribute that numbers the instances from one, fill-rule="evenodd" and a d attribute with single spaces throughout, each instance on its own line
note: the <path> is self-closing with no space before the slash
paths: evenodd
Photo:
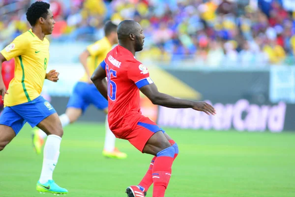
<path id="1" fill-rule="evenodd" d="M 174 155 L 174 148 L 172 146 L 165 150 L 167 152 L 170 151 Z M 151 174 L 154 184 L 152 197 L 164 197 L 171 177 L 171 166 L 174 161 L 173 155 L 157 155 L 158 157 L 155 159 Z"/>

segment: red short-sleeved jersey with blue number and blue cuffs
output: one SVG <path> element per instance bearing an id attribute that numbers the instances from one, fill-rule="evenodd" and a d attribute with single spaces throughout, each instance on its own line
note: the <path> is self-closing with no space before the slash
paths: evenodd
<path id="1" fill-rule="evenodd" d="M 148 69 L 119 45 L 101 66 L 107 74 L 110 129 L 114 133 L 132 131 L 142 117 L 139 88 L 153 83 Z"/>

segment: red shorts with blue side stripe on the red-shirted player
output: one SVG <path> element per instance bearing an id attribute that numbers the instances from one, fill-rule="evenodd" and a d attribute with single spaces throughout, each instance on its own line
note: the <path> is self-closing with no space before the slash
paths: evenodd
<path id="1" fill-rule="evenodd" d="M 134 129 L 128 131 L 127 133 L 119 133 L 117 131 L 114 132 L 114 134 L 118 138 L 128 140 L 135 148 L 143 152 L 149 138 L 157 131 L 162 131 L 163 133 L 165 132 L 160 127 L 158 127 L 155 122 L 141 115 Z"/>

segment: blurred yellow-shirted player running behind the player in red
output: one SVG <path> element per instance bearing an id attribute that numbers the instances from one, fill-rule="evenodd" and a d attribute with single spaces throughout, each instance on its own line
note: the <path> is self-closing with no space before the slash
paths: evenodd
<path id="1" fill-rule="evenodd" d="M 118 43 L 117 25 L 111 21 L 106 22 L 104 32 L 104 38 L 89 45 L 87 50 L 80 55 L 80 62 L 86 72 L 75 85 L 65 113 L 59 116 L 62 127 L 75 122 L 85 112 L 89 104 L 93 104 L 97 109 L 103 110 L 106 114 L 108 113 L 108 101 L 97 91 L 90 80 L 90 76 L 99 63 L 106 58 L 112 46 Z M 106 137 L 102 154 L 109 158 L 125 159 L 127 155 L 118 151 L 115 147 L 116 137 L 110 130 L 107 120 L 106 118 Z M 33 131 L 33 144 L 37 153 L 41 152 L 42 143 L 46 136 L 40 129 Z"/>

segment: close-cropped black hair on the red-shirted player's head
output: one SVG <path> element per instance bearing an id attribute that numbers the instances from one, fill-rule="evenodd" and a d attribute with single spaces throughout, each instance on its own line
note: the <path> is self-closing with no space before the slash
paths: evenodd
<path id="1" fill-rule="evenodd" d="M 118 39 L 129 37 L 130 33 L 135 33 L 138 23 L 133 20 L 124 20 L 118 25 Z"/>

